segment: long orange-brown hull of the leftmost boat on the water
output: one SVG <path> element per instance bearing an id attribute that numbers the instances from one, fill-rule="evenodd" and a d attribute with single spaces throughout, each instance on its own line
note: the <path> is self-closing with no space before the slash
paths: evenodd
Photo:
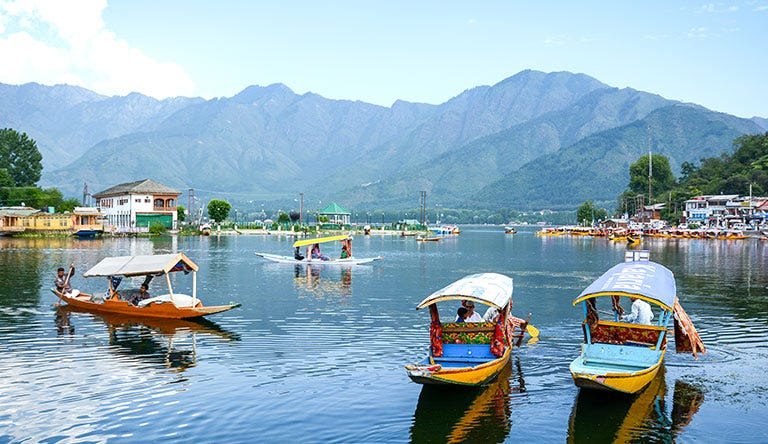
<path id="1" fill-rule="evenodd" d="M 112 313 L 133 317 L 157 318 L 157 319 L 193 319 L 201 316 L 221 313 L 240 304 L 217 305 L 204 307 L 198 304 L 196 307 L 177 307 L 172 302 L 150 304 L 145 307 L 137 307 L 128 301 L 106 300 L 104 302 L 92 302 L 91 295 L 80 294 L 76 297 L 63 295 L 55 290 L 53 293 L 67 304 L 90 312 Z"/>

